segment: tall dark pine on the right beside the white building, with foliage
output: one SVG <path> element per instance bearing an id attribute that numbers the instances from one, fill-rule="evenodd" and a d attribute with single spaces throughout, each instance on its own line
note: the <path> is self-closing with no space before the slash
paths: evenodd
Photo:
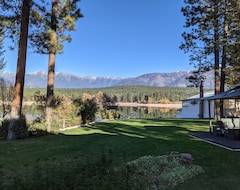
<path id="1" fill-rule="evenodd" d="M 186 18 L 184 42 L 180 48 L 190 54 L 190 63 L 196 68 L 214 69 L 215 94 L 224 91 L 226 70 L 232 40 L 239 34 L 231 31 L 239 15 L 238 0 L 185 0 L 182 8 Z M 235 23 L 235 24 L 234 24 Z M 232 34 L 231 34 L 232 33 Z M 231 43 L 229 43 L 231 42 Z M 235 49 L 235 48 L 233 48 Z M 215 118 L 222 115 L 220 101 L 215 102 Z"/>

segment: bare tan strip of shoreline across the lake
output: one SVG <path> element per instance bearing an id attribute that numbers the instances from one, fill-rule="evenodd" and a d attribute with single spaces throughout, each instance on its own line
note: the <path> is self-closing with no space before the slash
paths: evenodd
<path id="1" fill-rule="evenodd" d="M 180 109 L 182 108 L 182 103 L 171 103 L 171 104 L 160 104 L 160 103 L 137 103 L 137 102 L 117 102 L 117 106 L 122 107 L 154 107 L 154 108 L 172 108 L 172 109 Z"/>

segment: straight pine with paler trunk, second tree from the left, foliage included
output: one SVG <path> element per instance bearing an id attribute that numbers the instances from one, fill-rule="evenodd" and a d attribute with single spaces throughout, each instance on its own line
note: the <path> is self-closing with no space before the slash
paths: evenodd
<path id="1" fill-rule="evenodd" d="M 32 33 L 30 41 L 35 48 L 35 52 L 48 54 L 49 56 L 45 112 L 48 131 L 51 131 L 56 54 L 63 52 L 63 42 L 71 42 L 70 35 L 66 35 L 66 33 L 76 30 L 75 22 L 82 17 L 78 8 L 79 1 L 52 0 L 51 10 L 47 10 L 46 7 L 49 7 L 49 4 L 46 4 L 44 8 L 40 6 L 40 11 L 35 11 L 35 18 L 38 18 L 38 27 Z"/>

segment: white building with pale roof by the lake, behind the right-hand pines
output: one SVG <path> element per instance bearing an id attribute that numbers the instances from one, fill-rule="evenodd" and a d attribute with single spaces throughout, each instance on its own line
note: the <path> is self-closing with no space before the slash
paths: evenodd
<path id="1" fill-rule="evenodd" d="M 204 93 L 204 97 L 213 96 L 213 92 Z M 202 100 L 200 95 L 192 96 L 188 99 L 182 100 L 182 111 L 178 114 L 177 118 L 200 118 L 200 105 L 202 107 L 203 118 L 213 118 L 214 117 L 214 101 L 213 100 Z"/>

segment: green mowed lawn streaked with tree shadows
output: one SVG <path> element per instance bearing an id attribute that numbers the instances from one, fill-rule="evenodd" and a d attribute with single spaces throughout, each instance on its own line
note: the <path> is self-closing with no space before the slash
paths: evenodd
<path id="1" fill-rule="evenodd" d="M 78 172 L 84 173 L 82 177 L 89 179 L 84 180 L 84 185 L 79 189 L 106 189 L 94 186 L 94 180 L 100 183 L 94 177 L 96 164 L 104 165 L 109 160 L 121 164 L 146 155 L 158 156 L 177 151 L 192 154 L 193 164 L 201 166 L 204 173 L 178 185 L 175 189 L 239 189 L 240 153 L 225 150 L 187 135 L 190 131 L 208 131 L 208 124 L 208 120 L 196 119 L 115 120 L 67 130 L 59 135 L 0 141 L 1 183 L 16 183 L 17 176 L 32 175 L 39 170 L 42 171 L 42 167 L 50 167 L 50 170 L 57 168 L 57 172 L 62 173 L 63 176 L 58 178 L 60 181 L 56 183 L 65 183 L 66 181 L 62 181 L 64 173 L 66 171 L 71 173 L 73 167 L 69 166 L 76 162 L 81 165 Z M 94 167 L 88 167 L 93 165 Z M 61 167 L 65 168 L 64 171 L 59 169 Z M 74 170 L 73 178 L 75 175 L 80 175 L 77 174 L 76 168 Z M 46 171 L 52 172 L 48 169 Z M 106 180 L 108 178 L 104 178 L 104 182 Z M 118 178 L 109 180 L 112 180 L 109 183 L 120 183 L 113 181 Z M 124 189 L 123 186 L 121 188 Z M 36 187 L 36 189 L 41 188 Z"/>

